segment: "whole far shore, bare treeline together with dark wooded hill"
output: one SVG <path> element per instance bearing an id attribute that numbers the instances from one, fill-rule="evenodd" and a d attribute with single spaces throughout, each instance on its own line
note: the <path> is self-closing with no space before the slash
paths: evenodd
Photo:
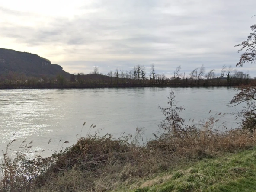
<path id="1" fill-rule="evenodd" d="M 147 70 L 146 70 L 147 69 Z M 179 65 L 170 77 L 159 73 L 154 64 L 136 65 L 124 71 L 117 68 L 107 74 L 95 67 L 90 74 L 69 74 L 62 67 L 51 64 L 36 54 L 0 48 L 0 89 L 22 88 L 101 88 L 101 87 L 152 87 L 152 86 L 236 86 L 251 83 L 247 73 L 223 65 L 219 72 L 214 69 L 194 68 L 182 73 Z"/>

